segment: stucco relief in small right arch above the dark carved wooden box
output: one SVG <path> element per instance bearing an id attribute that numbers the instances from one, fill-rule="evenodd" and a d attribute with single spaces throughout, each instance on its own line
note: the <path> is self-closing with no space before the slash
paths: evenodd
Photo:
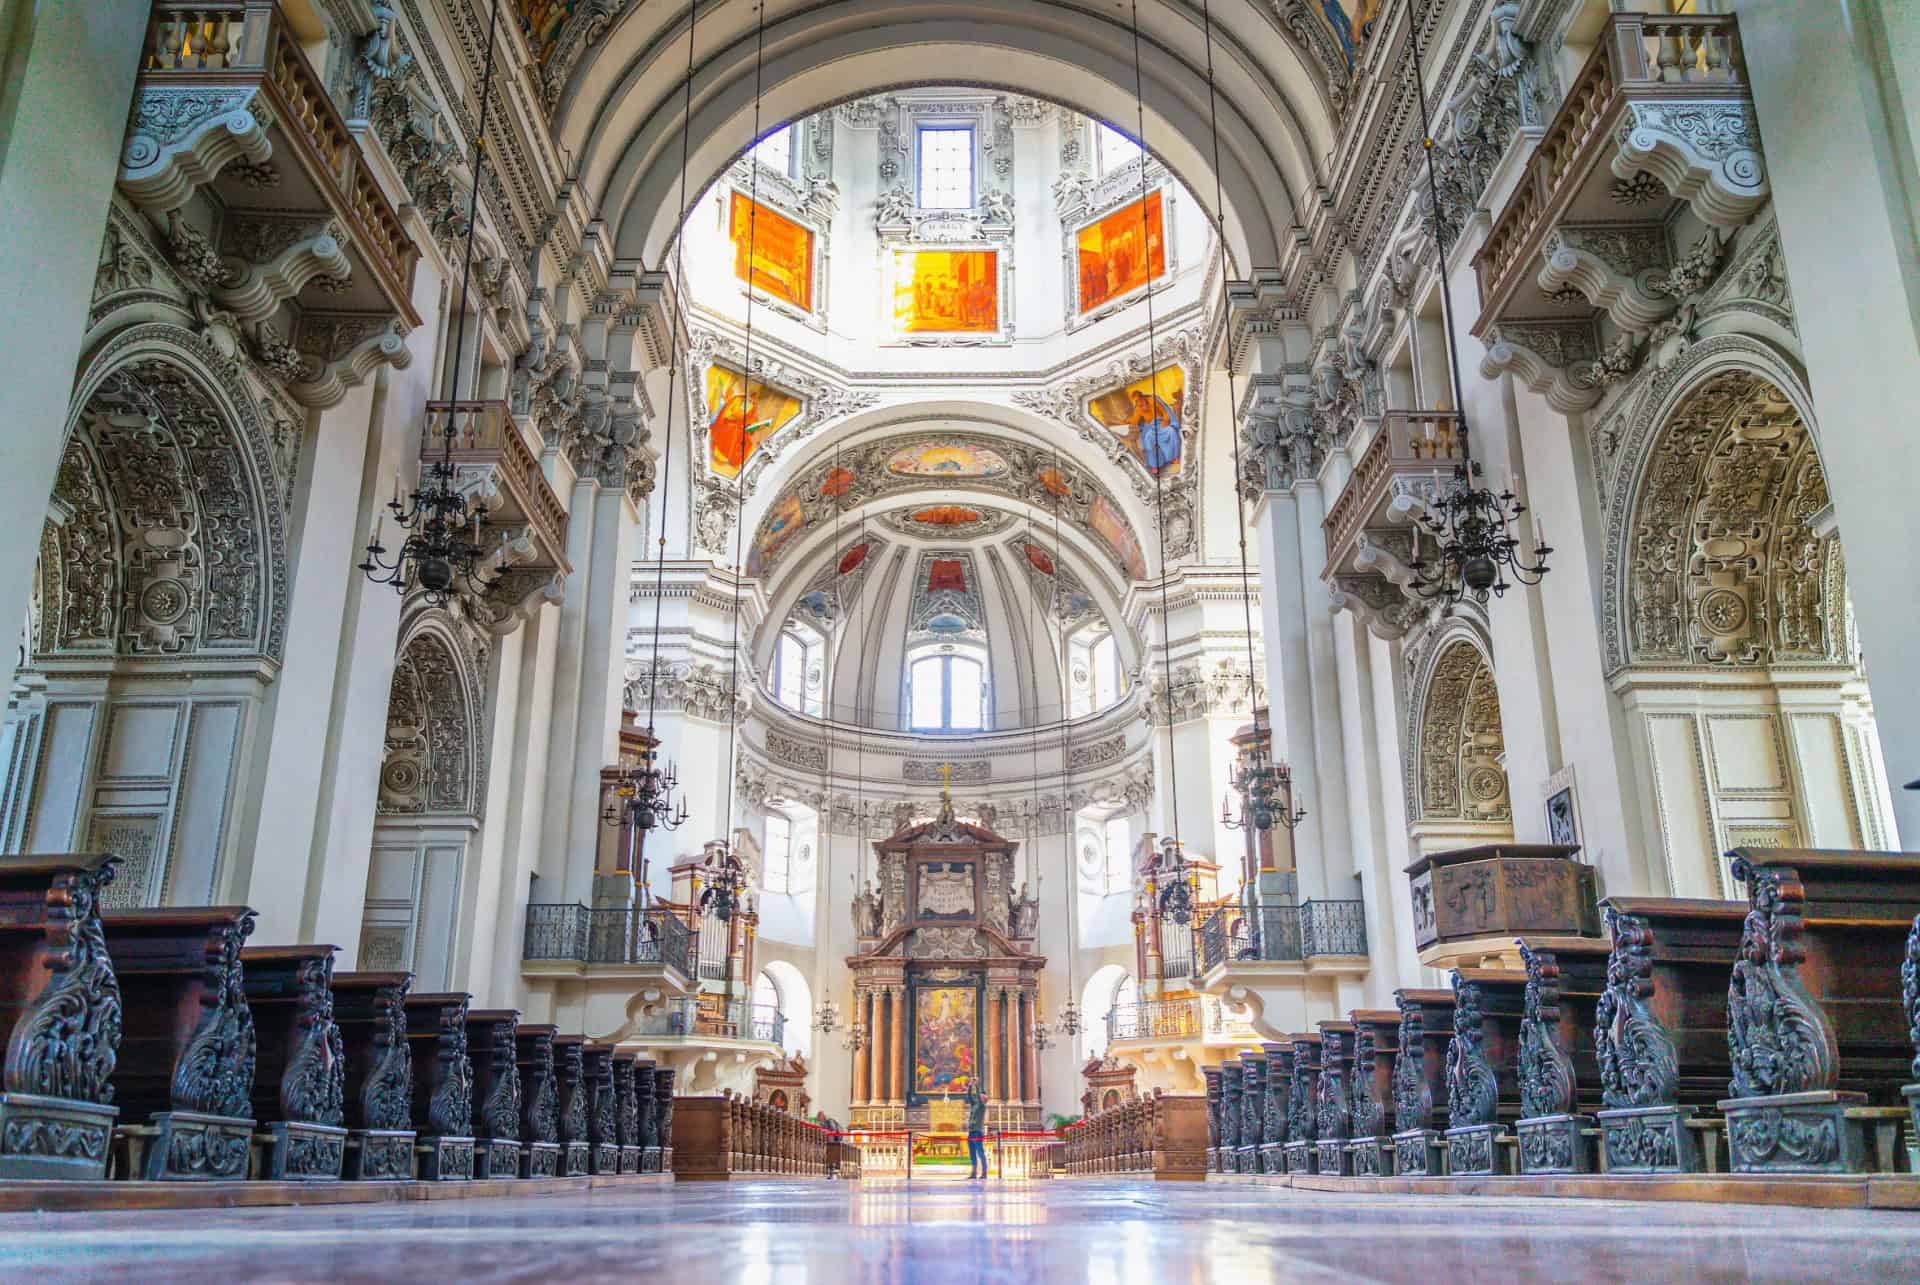
<path id="1" fill-rule="evenodd" d="M 1478 647 L 1455 640 L 1434 661 L 1421 705 L 1421 820 L 1509 820 L 1503 751 L 1494 670 Z"/>

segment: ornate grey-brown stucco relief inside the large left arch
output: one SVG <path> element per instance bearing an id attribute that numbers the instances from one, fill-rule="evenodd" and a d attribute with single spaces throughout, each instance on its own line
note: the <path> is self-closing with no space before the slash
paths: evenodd
<path id="1" fill-rule="evenodd" d="M 265 440 L 250 446 L 271 459 Z M 56 474 L 65 521 L 42 538 L 36 649 L 276 653 L 286 580 L 278 505 L 255 486 L 273 476 L 267 459 L 248 461 L 242 434 L 167 359 L 102 380 Z"/>

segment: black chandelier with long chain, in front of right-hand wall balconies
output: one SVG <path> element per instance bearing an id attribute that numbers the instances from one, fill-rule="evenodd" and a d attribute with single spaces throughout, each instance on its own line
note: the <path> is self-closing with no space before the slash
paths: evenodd
<path id="1" fill-rule="evenodd" d="M 1511 588 L 1507 576 L 1521 584 L 1540 584 L 1548 574 L 1548 555 L 1553 547 L 1546 544 L 1540 519 L 1534 519 L 1532 553 L 1521 551 L 1521 538 L 1513 534 L 1515 521 L 1526 513 L 1511 488 L 1492 492 L 1480 484 L 1480 463 L 1473 457 L 1467 432 L 1467 401 L 1461 398 L 1459 346 L 1453 340 L 1453 290 L 1448 284 L 1446 252 L 1452 244 L 1452 230 L 1446 227 L 1446 211 L 1440 206 L 1440 182 L 1434 173 L 1434 131 L 1427 113 L 1427 69 L 1421 63 L 1421 27 L 1425 27 L 1427 8 L 1411 13 L 1413 27 L 1407 40 L 1413 46 L 1413 94 L 1421 104 L 1421 150 L 1427 154 L 1427 196 L 1432 206 L 1432 238 L 1436 252 L 1436 275 L 1440 277 L 1440 303 L 1444 309 L 1448 380 L 1453 390 L 1453 407 L 1459 417 L 1459 463 L 1453 465 L 1453 484 L 1442 490 L 1413 522 L 1413 592 L 1428 601 L 1438 601 L 1452 611 L 1461 599 L 1486 603 L 1486 595 L 1503 597 Z M 1427 536 L 1428 549 L 1423 553 L 1421 536 Z"/>

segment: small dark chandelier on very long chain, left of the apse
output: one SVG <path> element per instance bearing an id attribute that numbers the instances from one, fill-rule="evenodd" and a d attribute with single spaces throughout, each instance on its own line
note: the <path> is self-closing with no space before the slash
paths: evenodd
<path id="1" fill-rule="evenodd" d="M 687 10 L 687 71 L 685 77 L 682 77 L 680 90 L 680 223 L 674 232 L 676 290 L 684 290 L 687 280 L 687 136 L 693 131 L 693 36 L 697 27 L 699 6 L 691 6 Z M 655 711 L 660 701 L 660 605 L 666 599 L 666 496 L 668 482 L 674 476 L 674 403 L 680 401 L 680 367 L 684 361 L 680 300 L 676 298 L 672 303 L 672 328 L 666 344 L 666 448 L 660 455 L 660 480 L 655 488 L 660 496 L 660 538 L 655 546 L 653 572 L 653 651 L 647 657 L 647 743 L 639 751 L 639 764 L 620 774 L 620 780 L 612 789 L 614 801 L 605 812 L 601 812 L 601 822 L 607 826 L 630 822 L 641 836 L 649 830 L 680 830 L 680 826 L 687 822 L 685 797 L 680 797 L 678 801 L 674 799 L 674 791 L 680 788 L 680 772 L 674 768 L 672 761 L 660 759 L 659 738 L 655 736 Z M 691 457 L 691 432 L 687 434 L 687 455 Z M 691 465 L 687 473 L 691 474 Z M 639 839 L 639 859 L 630 861 L 628 868 L 634 870 L 634 882 L 639 884 L 639 899 L 645 903 L 649 893 L 643 837 Z"/>

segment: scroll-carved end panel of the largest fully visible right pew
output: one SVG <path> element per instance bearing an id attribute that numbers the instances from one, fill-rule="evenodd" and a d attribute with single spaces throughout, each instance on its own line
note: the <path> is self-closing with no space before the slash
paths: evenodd
<path id="1" fill-rule="evenodd" d="M 1807 993 L 1805 889 L 1786 866 L 1757 866 L 1736 849 L 1734 878 L 1747 885 L 1740 958 L 1726 985 L 1726 1043 L 1734 1097 L 1811 1093 L 1839 1083 L 1839 1043 L 1826 1010 Z"/>

